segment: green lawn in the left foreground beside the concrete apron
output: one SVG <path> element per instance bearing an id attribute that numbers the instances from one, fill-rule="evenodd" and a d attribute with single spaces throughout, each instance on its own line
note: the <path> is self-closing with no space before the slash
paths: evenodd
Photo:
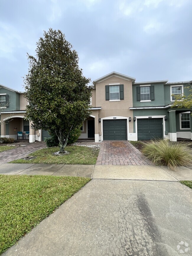
<path id="1" fill-rule="evenodd" d="M 0 254 L 89 181 L 82 177 L 0 175 Z"/>

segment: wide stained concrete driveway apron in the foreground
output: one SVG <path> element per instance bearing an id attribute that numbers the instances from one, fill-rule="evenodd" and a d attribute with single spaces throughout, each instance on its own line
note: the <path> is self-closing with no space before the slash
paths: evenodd
<path id="1" fill-rule="evenodd" d="M 179 182 L 92 179 L 2 256 L 189 256 L 191 198 Z"/>

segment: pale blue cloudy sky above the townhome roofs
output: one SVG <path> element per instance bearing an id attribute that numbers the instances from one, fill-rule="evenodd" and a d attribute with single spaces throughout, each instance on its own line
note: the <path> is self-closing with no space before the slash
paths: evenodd
<path id="1" fill-rule="evenodd" d="M 60 29 L 95 80 L 192 80 L 191 0 L 0 0 L 0 84 L 23 91 L 27 52 Z"/>

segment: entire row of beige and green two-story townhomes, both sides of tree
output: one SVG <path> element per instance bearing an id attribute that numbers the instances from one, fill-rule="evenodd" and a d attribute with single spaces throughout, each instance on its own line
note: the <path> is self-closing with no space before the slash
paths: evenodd
<path id="1" fill-rule="evenodd" d="M 135 82 L 136 79 L 111 72 L 94 81 L 90 117 L 82 124 L 80 139 L 151 140 L 155 138 L 192 139 L 190 109 L 171 108 L 174 95 L 188 94 L 191 81 L 168 80 Z M 27 101 L 23 92 L 0 85 L 1 137 L 29 142 L 50 137 L 47 131 L 30 129 L 24 119 Z M 20 138 L 19 138 L 20 139 Z"/>

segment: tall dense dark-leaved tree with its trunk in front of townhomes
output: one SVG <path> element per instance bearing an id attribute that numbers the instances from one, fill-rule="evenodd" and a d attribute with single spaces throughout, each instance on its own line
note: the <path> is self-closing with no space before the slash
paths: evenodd
<path id="1" fill-rule="evenodd" d="M 32 128 L 55 133 L 64 152 L 71 130 L 91 114 L 90 79 L 83 76 L 77 51 L 60 30 L 44 31 L 37 42 L 36 57 L 28 54 L 28 61 L 26 118 L 33 122 Z"/>

